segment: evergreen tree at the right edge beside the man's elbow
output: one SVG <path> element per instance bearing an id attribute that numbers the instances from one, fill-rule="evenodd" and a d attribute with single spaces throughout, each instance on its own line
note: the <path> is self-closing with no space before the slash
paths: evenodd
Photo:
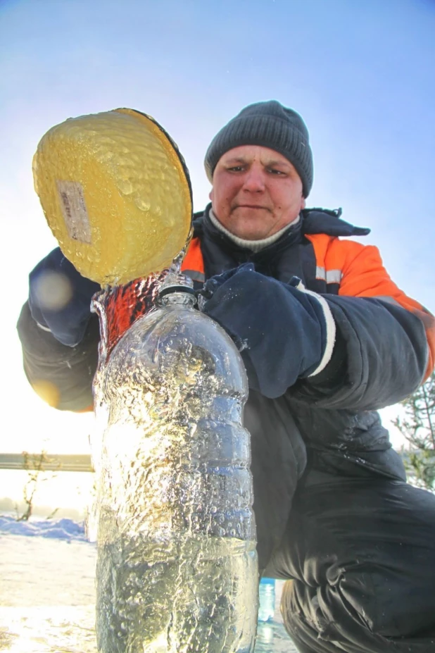
<path id="1" fill-rule="evenodd" d="M 393 424 L 408 441 L 402 449 L 412 485 L 435 491 L 435 373 L 402 403 L 404 416 Z"/>

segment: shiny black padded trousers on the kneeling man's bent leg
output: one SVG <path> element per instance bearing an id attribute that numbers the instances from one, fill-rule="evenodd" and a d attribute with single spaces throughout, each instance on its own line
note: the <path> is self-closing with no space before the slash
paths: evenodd
<path id="1" fill-rule="evenodd" d="M 435 653 L 435 497 L 384 479 L 296 493 L 267 575 L 301 653 Z"/>

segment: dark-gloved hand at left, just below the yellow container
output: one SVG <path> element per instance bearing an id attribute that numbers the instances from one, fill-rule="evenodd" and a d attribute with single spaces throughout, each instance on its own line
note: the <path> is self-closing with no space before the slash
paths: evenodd
<path id="1" fill-rule="evenodd" d="M 82 277 L 57 247 L 29 275 L 32 318 L 56 340 L 75 347 L 86 331 L 97 290 L 99 284 Z"/>

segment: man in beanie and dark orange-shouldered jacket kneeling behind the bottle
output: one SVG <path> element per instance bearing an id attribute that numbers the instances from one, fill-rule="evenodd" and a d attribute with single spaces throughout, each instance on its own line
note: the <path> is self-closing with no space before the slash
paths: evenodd
<path id="1" fill-rule="evenodd" d="M 260 569 L 293 580 L 286 628 L 302 653 L 435 650 L 435 499 L 405 483 L 375 412 L 431 372 L 434 318 L 376 248 L 339 238 L 368 230 L 305 209 L 313 160 L 295 111 L 244 108 L 205 164 L 211 204 L 196 214 L 184 270 L 248 373 Z M 53 313 L 34 287 L 60 268 L 74 292 Z M 94 290 L 58 250 L 30 275 L 25 370 L 56 384 L 61 409 L 92 399 Z"/>

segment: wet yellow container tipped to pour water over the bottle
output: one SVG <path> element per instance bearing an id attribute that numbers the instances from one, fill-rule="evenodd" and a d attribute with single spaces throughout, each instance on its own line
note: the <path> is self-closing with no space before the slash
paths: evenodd
<path id="1" fill-rule="evenodd" d="M 56 125 L 38 144 L 33 175 L 63 254 L 102 286 L 160 272 L 189 238 L 186 164 L 144 113 L 118 108 Z"/>

